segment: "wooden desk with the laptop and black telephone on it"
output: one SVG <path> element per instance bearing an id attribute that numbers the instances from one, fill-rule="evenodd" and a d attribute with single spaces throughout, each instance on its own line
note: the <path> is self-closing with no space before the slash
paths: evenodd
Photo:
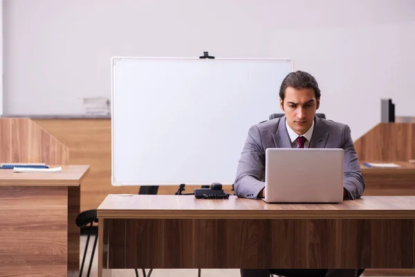
<path id="1" fill-rule="evenodd" d="M 133 268 L 415 268 L 415 197 L 266 204 L 109 195 L 98 217 L 99 276 Z"/>

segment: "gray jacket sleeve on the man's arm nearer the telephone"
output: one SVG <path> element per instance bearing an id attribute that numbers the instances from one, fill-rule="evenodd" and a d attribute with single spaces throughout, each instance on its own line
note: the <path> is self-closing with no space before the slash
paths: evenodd
<path id="1" fill-rule="evenodd" d="M 234 181 L 234 191 L 238 197 L 257 198 L 265 188 L 265 152 L 261 143 L 261 133 L 257 126 L 250 127 L 243 146 L 241 159 Z"/>

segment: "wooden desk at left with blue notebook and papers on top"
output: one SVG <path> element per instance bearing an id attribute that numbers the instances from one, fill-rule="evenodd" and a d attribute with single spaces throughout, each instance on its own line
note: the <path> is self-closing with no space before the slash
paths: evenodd
<path id="1" fill-rule="evenodd" d="M 80 268 L 80 184 L 89 166 L 62 172 L 0 169 L 0 276 L 67 276 Z"/>

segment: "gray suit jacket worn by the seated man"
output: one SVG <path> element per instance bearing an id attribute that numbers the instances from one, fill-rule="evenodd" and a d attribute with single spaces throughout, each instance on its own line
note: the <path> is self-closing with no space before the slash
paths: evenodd
<path id="1" fill-rule="evenodd" d="M 259 192 L 265 187 L 265 151 L 267 148 L 291 148 L 285 122 L 286 117 L 283 116 L 250 127 L 234 181 L 234 190 L 238 197 L 257 198 Z M 360 171 L 349 126 L 315 116 L 313 136 L 311 136 L 309 147 L 343 148 L 343 186 L 349 192 L 349 197 L 346 199 L 362 196 L 365 181 Z"/>

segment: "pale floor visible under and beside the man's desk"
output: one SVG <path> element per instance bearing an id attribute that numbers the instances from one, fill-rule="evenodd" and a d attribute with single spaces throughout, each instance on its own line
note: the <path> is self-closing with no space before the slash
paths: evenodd
<path id="1" fill-rule="evenodd" d="M 91 235 L 82 276 L 86 276 L 86 272 L 88 271 L 89 260 L 91 258 L 91 251 L 93 248 L 94 238 L 95 237 Z M 85 244 L 86 244 L 86 235 L 81 235 L 80 262 L 82 262 L 82 257 L 84 255 Z M 148 271 L 149 270 L 147 269 L 146 270 L 147 274 L 148 274 Z M 138 271 L 138 275 L 140 277 L 143 276 L 141 270 Z M 95 249 L 95 254 L 93 256 L 93 263 L 91 267 L 90 276 L 91 277 L 98 276 L 98 244 L 97 244 L 97 248 Z M 202 269 L 201 270 L 201 277 L 216 277 L 216 276 L 240 277 L 240 274 L 239 274 L 239 269 Z M 112 277 L 136 277 L 136 273 L 134 272 L 133 269 L 113 270 Z M 197 269 L 154 269 L 154 271 L 151 273 L 151 277 L 198 277 L 198 270 Z M 398 277 L 398 276 L 388 276 L 388 277 Z"/>

